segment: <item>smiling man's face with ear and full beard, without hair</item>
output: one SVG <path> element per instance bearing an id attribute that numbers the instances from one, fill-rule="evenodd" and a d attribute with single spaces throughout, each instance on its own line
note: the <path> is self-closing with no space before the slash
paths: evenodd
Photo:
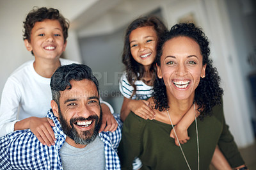
<path id="1" fill-rule="evenodd" d="M 67 142 L 69 137 L 76 144 L 88 144 L 97 137 L 101 125 L 98 91 L 88 79 L 72 80 L 70 84 L 71 89 L 60 91 L 60 107 L 54 115 L 60 120 Z"/>

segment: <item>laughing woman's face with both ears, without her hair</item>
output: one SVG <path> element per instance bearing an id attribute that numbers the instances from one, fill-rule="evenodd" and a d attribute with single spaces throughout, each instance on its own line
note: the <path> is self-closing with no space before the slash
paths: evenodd
<path id="1" fill-rule="evenodd" d="M 164 79 L 168 97 L 177 100 L 194 98 L 206 68 L 198 43 L 186 36 L 172 38 L 164 43 L 160 61 L 157 75 Z"/>

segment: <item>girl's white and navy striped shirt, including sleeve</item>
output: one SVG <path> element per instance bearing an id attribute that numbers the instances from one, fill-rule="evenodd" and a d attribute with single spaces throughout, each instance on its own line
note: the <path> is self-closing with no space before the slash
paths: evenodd
<path id="1" fill-rule="evenodd" d="M 143 81 L 135 81 L 135 85 L 136 93 L 131 98 L 134 88 L 127 80 L 127 73 L 124 72 L 119 82 L 119 89 L 124 97 L 131 98 L 132 100 L 145 100 L 152 97 L 153 86 L 148 86 Z"/>

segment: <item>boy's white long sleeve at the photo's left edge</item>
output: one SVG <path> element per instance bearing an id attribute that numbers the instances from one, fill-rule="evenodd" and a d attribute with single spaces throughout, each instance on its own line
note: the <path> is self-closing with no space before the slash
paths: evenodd
<path id="1" fill-rule="evenodd" d="M 4 85 L 0 104 L 0 136 L 14 131 L 20 104 L 19 83 L 9 77 Z"/>

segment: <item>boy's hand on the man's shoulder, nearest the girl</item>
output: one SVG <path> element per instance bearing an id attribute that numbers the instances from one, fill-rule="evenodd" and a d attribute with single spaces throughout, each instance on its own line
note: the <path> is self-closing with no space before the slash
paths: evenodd
<path id="1" fill-rule="evenodd" d="M 113 114 L 110 112 L 108 105 L 101 104 L 102 109 L 102 124 L 100 127 L 99 132 L 114 132 L 118 127 L 116 119 L 114 118 Z"/>

